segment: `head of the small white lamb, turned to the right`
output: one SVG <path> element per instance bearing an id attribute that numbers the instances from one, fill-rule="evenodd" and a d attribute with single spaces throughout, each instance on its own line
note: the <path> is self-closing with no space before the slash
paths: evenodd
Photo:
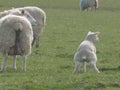
<path id="1" fill-rule="evenodd" d="M 99 37 L 98 37 L 99 34 L 100 34 L 100 32 L 89 31 L 87 36 L 86 36 L 86 40 L 89 40 L 91 42 L 98 42 L 99 41 Z"/>

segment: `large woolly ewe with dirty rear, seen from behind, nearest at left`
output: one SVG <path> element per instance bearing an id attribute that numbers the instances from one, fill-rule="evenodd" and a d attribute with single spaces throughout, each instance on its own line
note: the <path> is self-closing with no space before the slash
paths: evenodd
<path id="1" fill-rule="evenodd" d="M 3 54 L 1 72 L 6 69 L 8 55 L 13 56 L 13 69 L 16 70 L 16 55 L 21 55 L 23 70 L 31 53 L 33 31 L 31 23 L 22 16 L 6 15 L 0 18 L 0 52 Z"/>

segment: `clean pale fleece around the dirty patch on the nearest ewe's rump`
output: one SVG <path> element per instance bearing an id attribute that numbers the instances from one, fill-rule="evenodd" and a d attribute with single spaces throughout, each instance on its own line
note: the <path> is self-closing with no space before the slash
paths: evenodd
<path id="1" fill-rule="evenodd" d="M 16 32 L 19 31 L 19 45 L 24 54 L 31 53 L 31 43 L 33 32 L 30 22 L 21 16 L 6 16 L 1 19 L 0 25 L 0 48 L 9 49 L 14 47 L 16 41 Z"/>

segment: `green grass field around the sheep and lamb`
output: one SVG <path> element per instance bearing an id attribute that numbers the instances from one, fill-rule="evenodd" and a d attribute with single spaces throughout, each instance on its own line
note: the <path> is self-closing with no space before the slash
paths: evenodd
<path id="1" fill-rule="evenodd" d="M 79 0 L 1 0 L 0 11 L 38 6 L 47 14 L 40 47 L 32 49 L 27 71 L 18 57 L 17 71 L 0 73 L 0 90 L 120 90 L 120 0 L 99 0 L 97 11 L 82 12 Z M 88 31 L 99 31 L 96 44 L 100 73 L 91 70 L 73 75 L 73 55 Z M 0 64 L 2 55 L 0 55 Z"/>

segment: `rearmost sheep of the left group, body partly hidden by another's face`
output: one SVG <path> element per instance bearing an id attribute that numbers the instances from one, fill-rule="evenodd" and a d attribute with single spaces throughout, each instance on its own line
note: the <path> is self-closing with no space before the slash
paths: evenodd
<path id="1" fill-rule="evenodd" d="M 36 48 L 38 48 L 39 38 L 46 23 L 46 13 L 41 8 L 35 7 L 35 6 L 28 6 L 28 7 L 22 7 L 22 8 L 17 8 L 17 9 L 26 10 L 37 21 L 37 25 L 32 26 L 33 34 L 34 34 L 34 40 L 33 40 L 32 45 L 36 42 Z"/>

